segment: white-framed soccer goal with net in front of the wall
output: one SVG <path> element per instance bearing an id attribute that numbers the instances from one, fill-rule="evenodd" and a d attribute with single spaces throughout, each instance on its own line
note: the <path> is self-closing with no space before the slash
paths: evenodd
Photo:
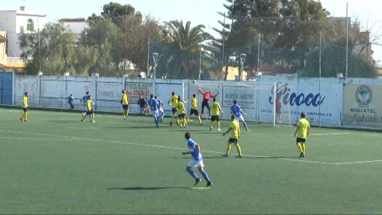
<path id="1" fill-rule="evenodd" d="M 190 100 L 193 94 L 198 99 L 199 113 L 201 114 L 201 104 L 203 95 L 199 92 L 210 92 L 217 95 L 217 101 L 222 110 L 222 119 L 230 119 L 230 107 L 237 100 L 244 113 L 246 121 L 265 122 L 272 126 L 291 125 L 291 107 L 289 102 L 289 92 L 291 87 L 286 83 L 276 82 L 230 82 L 230 81 L 186 81 L 183 84 L 183 100 L 188 100 L 186 104 L 187 112 L 190 111 Z M 209 103 L 213 102 L 210 98 Z M 204 108 L 203 119 L 208 118 L 208 110 Z"/>

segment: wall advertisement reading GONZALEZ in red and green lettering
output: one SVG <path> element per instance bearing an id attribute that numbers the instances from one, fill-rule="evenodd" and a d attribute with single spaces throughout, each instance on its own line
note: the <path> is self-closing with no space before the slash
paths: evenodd
<path id="1" fill-rule="evenodd" d="M 153 83 L 146 82 L 125 82 L 125 90 L 129 96 L 130 103 L 137 103 L 139 96 L 150 96 L 153 92 Z"/>

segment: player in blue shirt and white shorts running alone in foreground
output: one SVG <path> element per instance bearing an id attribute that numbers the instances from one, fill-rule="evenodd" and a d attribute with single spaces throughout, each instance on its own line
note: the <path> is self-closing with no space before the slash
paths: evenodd
<path id="1" fill-rule="evenodd" d="M 191 135 L 187 132 L 184 137 L 187 140 L 187 146 L 188 146 L 188 152 L 183 152 L 183 155 L 191 154 L 193 159 L 188 162 L 186 171 L 195 179 L 196 186 L 199 182 L 202 180 L 196 175 L 196 173 L 191 169 L 193 166 L 197 167 L 199 169 L 199 172 L 202 174 L 203 178 L 207 181 L 206 187 L 209 187 L 212 185 L 211 180 L 209 179 L 207 173 L 204 171 L 203 167 L 203 156 L 200 152 L 200 146 L 197 144 L 193 139 L 191 139 Z"/>

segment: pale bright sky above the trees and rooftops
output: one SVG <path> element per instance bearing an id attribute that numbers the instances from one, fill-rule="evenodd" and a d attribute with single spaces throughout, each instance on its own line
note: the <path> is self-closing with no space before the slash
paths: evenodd
<path id="1" fill-rule="evenodd" d="M 1 10 L 14 10 L 26 6 L 27 10 L 47 14 L 48 21 L 60 18 L 88 17 L 93 12 L 99 14 L 102 6 L 109 2 L 130 4 L 142 14 L 150 14 L 161 21 L 173 19 L 190 20 L 192 25 L 203 24 L 207 31 L 211 27 L 219 27 L 217 20 L 222 16 L 217 11 L 225 12 L 225 0 L 13 0 L 5 1 Z M 358 17 L 363 26 L 372 26 L 374 32 L 382 26 L 382 6 L 380 0 L 321 0 L 324 8 L 333 16 L 346 16 L 346 2 L 349 3 L 349 16 Z M 382 31 L 380 32 L 382 34 Z M 381 61 L 382 48 L 373 46 L 374 57 Z"/>

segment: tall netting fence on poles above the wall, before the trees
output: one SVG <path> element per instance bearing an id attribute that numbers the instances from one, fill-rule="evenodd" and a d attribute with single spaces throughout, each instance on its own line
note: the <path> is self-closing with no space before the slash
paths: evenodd
<path id="1" fill-rule="evenodd" d="M 223 17 L 222 17 L 223 19 Z M 299 73 L 306 77 L 375 78 L 371 43 L 346 17 L 231 17 L 216 31 L 186 23 L 159 23 L 152 17 L 89 20 L 80 33 L 65 23 L 20 36 L 26 72 L 45 74 L 250 80 Z M 346 23 L 350 23 L 346 51 Z M 198 28 L 200 28 L 198 30 Z M 40 48 L 36 46 L 40 41 Z M 37 50 L 38 49 L 38 50 Z M 158 57 L 153 58 L 157 53 Z M 348 53 L 348 57 L 347 57 Z M 245 58 L 240 60 L 240 56 Z M 347 60 L 348 58 L 348 60 Z M 321 63 L 320 63 L 321 62 Z M 154 67 L 156 65 L 157 67 Z M 348 69 L 346 69 L 346 65 Z M 155 71 L 155 72 L 154 72 Z M 240 76 L 240 77 L 239 77 Z"/>

